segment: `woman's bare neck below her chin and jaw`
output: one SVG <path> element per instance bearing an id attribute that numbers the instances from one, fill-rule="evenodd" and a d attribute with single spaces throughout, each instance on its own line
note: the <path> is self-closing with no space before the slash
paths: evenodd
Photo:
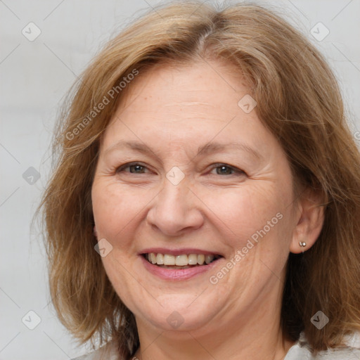
<path id="1" fill-rule="evenodd" d="M 212 331 L 162 331 L 137 321 L 141 345 L 130 360 L 179 359 L 179 354 L 187 360 L 283 360 L 294 342 L 283 336 L 280 310 L 274 316 L 271 304 L 256 308 Z"/>

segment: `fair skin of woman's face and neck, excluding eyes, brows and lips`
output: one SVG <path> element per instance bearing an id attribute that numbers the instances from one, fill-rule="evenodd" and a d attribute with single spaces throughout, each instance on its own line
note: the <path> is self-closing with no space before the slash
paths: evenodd
<path id="1" fill-rule="evenodd" d="M 136 353 L 139 359 L 177 359 L 170 356 L 174 351 L 184 359 L 212 359 L 209 353 L 216 359 L 273 359 L 274 349 L 284 355 L 291 345 L 282 347 L 278 324 L 281 279 L 300 217 L 290 165 L 256 108 L 246 114 L 238 107 L 249 91 L 231 75 L 234 70 L 211 64 L 155 68 L 131 82 L 101 144 L 92 188 L 96 229 L 113 245 L 103 264 L 136 316 L 141 346 L 152 343 L 146 353 Z M 146 143 L 158 158 L 131 150 L 106 153 L 121 139 Z M 242 150 L 197 156 L 210 141 L 246 143 L 262 160 Z M 127 162 L 141 162 L 145 172 L 117 173 Z M 219 162 L 246 174 L 223 175 L 212 167 Z M 176 186 L 166 178 L 174 166 L 185 175 Z M 225 266 L 278 212 L 283 218 L 216 285 L 209 281 L 214 271 L 162 280 L 138 255 L 149 247 L 195 247 L 223 255 Z M 177 331 L 167 322 L 173 311 L 184 319 Z"/>

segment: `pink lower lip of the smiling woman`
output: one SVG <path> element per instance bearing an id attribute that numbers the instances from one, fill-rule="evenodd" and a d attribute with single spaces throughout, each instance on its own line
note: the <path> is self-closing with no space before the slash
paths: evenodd
<path id="1" fill-rule="evenodd" d="M 220 259 L 217 259 L 214 262 L 210 262 L 208 265 L 194 266 L 189 267 L 188 269 L 167 269 L 165 267 L 151 264 L 142 255 L 140 255 L 140 257 L 143 265 L 148 271 L 150 271 L 151 274 L 164 280 L 186 280 L 188 278 L 193 278 L 193 276 L 203 274 L 206 271 L 211 270 L 220 261 Z"/>

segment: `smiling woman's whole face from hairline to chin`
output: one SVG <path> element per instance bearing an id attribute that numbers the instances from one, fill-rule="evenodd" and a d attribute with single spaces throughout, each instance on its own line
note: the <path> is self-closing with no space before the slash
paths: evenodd
<path id="1" fill-rule="evenodd" d="M 101 259 L 138 327 L 206 333 L 280 310 L 293 179 L 234 71 L 154 68 L 127 85 L 103 136 L 92 187 Z"/>

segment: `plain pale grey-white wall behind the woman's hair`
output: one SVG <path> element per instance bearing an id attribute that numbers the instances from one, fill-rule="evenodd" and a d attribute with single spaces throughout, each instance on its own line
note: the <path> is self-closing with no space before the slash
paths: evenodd
<path id="1" fill-rule="evenodd" d="M 49 145 L 63 96 L 105 41 L 155 4 L 159 1 L 0 0 L 0 360 L 66 360 L 86 352 L 76 346 L 51 307 L 44 246 L 30 222 L 49 176 Z M 325 54 L 342 86 L 356 134 L 360 1 L 258 4 L 275 7 Z M 41 30 L 34 41 L 22 34 L 30 22 Z M 330 31 L 323 41 L 310 33 L 319 22 Z M 29 167 L 41 176 L 32 185 L 23 179 Z M 22 322 L 30 310 L 41 318 L 34 330 Z M 32 319 L 30 324 L 35 318 L 26 319 Z"/>

